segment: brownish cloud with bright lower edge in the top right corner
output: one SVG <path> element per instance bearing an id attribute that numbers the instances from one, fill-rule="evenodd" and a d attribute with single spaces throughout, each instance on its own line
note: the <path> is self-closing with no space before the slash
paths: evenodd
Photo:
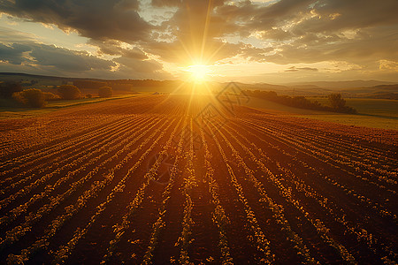
<path id="1" fill-rule="evenodd" d="M 232 16 L 247 31 L 284 28 L 296 36 L 307 33 L 336 33 L 345 29 L 380 27 L 398 22 L 398 2 L 385 0 L 280 0 L 274 4 L 224 5 L 219 13 Z M 396 27 L 396 25 L 395 25 Z"/>

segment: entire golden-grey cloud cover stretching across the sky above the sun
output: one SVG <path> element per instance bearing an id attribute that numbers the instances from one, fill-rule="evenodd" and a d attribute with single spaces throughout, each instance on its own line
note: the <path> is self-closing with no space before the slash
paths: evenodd
<path id="1" fill-rule="evenodd" d="M 164 63 L 220 64 L 236 58 L 297 65 L 339 61 L 358 65 L 358 74 L 391 72 L 398 62 L 396 10 L 396 0 L 4 0 L 0 11 L 76 31 L 90 39 L 97 54 L 45 46 L 28 34 L 3 30 L 2 35 L 0 27 L 0 57 L 14 65 L 132 78 L 168 76 Z M 156 18 L 162 19 L 152 21 Z M 284 74 L 294 72 L 324 71 L 291 67 Z"/>

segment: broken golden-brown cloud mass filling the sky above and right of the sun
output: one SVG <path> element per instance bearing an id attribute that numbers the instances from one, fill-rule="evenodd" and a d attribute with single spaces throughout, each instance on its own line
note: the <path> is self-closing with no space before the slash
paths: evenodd
<path id="1" fill-rule="evenodd" d="M 172 62 L 181 55 L 211 57 L 219 53 L 211 62 L 242 55 L 276 64 L 325 60 L 356 64 L 395 57 L 394 46 L 398 44 L 394 34 L 398 30 L 394 14 L 398 2 L 392 0 L 378 4 L 376 12 L 370 0 L 280 0 L 273 4 L 218 1 L 210 11 L 208 1 L 153 0 L 152 4 L 178 8 L 172 19 L 158 28 L 175 39 L 147 45 L 149 52 Z M 228 35 L 244 39 L 253 34 L 268 47 L 221 42 Z"/>

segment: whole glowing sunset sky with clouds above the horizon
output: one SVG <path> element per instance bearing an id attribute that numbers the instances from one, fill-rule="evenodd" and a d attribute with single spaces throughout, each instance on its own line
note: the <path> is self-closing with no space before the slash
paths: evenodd
<path id="1" fill-rule="evenodd" d="M 396 11 L 397 0 L 0 0 L 0 72 L 398 82 Z"/>

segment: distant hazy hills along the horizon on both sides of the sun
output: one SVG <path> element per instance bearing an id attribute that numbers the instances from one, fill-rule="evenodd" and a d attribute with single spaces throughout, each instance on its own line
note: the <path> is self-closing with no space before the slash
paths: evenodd
<path id="1" fill-rule="evenodd" d="M 24 87 L 50 88 L 73 82 L 98 82 L 103 85 L 113 86 L 117 90 L 128 90 L 140 93 L 167 93 L 186 94 L 191 90 L 178 80 L 152 80 L 152 79 L 81 79 L 57 76 L 42 76 L 26 73 L 0 72 L 0 81 L 18 81 Z M 113 85 L 112 85 L 113 84 Z M 228 82 L 210 82 L 209 86 L 221 90 L 228 86 Z M 279 95 L 322 96 L 332 93 L 341 93 L 344 97 L 366 97 L 379 99 L 398 99 L 398 84 L 379 80 L 352 80 L 352 81 L 317 81 L 302 83 L 287 83 L 284 85 L 269 83 L 235 83 L 242 90 L 268 90 L 277 91 Z M 177 89 L 178 87 L 178 89 Z"/>

